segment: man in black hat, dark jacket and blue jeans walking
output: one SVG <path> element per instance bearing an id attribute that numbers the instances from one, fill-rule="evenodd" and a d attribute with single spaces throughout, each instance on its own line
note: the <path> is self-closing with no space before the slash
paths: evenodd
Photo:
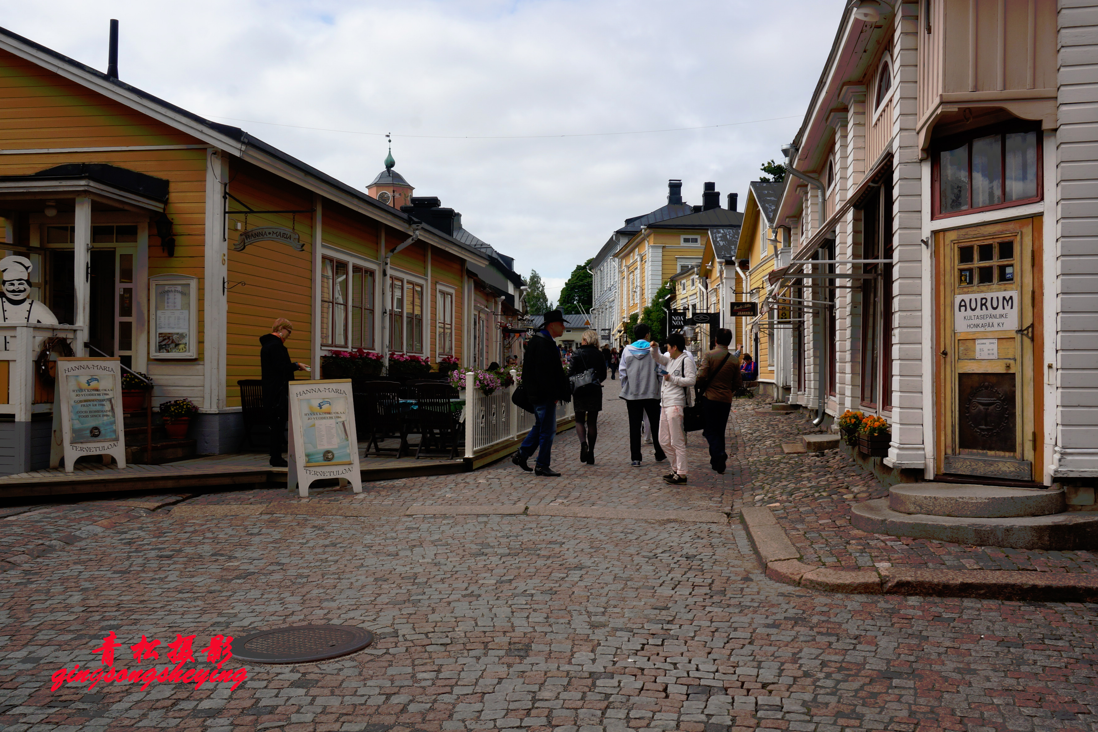
<path id="1" fill-rule="evenodd" d="M 552 440 L 557 437 L 557 402 L 569 398 L 568 376 L 560 363 L 557 338 L 564 335 L 564 315 L 560 311 L 545 314 L 541 329 L 526 344 L 523 357 L 523 391 L 534 405 L 534 427 L 511 461 L 535 475 L 556 477 L 560 473 L 549 468 Z M 527 460 L 538 451 L 535 466 Z"/>

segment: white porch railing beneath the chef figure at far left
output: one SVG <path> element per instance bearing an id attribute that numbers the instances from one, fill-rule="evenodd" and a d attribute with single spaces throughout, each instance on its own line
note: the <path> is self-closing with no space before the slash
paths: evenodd
<path id="1" fill-rule="evenodd" d="M 51 403 L 34 404 L 34 360 L 46 338 L 60 336 L 80 353 L 75 325 L 0 325 L 0 414 L 15 421 L 31 421 L 35 412 L 53 412 Z"/>

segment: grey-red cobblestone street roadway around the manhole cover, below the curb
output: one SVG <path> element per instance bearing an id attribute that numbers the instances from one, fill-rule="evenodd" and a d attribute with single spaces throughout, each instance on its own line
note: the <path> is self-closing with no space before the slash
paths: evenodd
<path id="1" fill-rule="evenodd" d="M 624 409 L 608 398 L 593 468 L 578 462 L 570 431 L 558 438 L 561 478 L 536 478 L 503 462 L 461 475 L 370 484 L 361 497 L 316 492 L 310 502 L 735 510 L 752 477 L 754 503 L 762 475 L 773 486 L 764 500 L 792 497 L 798 469 L 777 480 L 777 464 L 760 464 L 770 455 L 754 446 L 778 427 L 747 421 L 749 406 L 759 408 L 744 403 L 736 413 L 736 429 L 751 437 L 737 469 L 725 476 L 709 472 L 692 435 L 694 469 L 683 487 L 659 480 L 666 463 L 628 466 Z M 855 477 L 843 481 L 869 485 Z M 791 485 L 781 487 L 785 482 Z M 831 502 L 841 504 L 841 495 L 849 493 Z M 281 500 L 296 498 L 284 488 L 264 489 L 182 505 Z M 738 522 L 183 518 L 170 509 L 2 575 L 0 728 L 1098 729 L 1095 605 L 793 588 L 760 572 Z M 0 532 L 20 520 L 29 522 L 21 525 L 26 531 L 35 516 L 2 519 Z M 235 690 L 227 682 L 197 689 L 152 683 L 144 690 L 141 683 L 115 682 L 92 689 L 79 677 L 51 689 L 61 667 L 98 668 L 93 649 L 112 631 L 122 644 L 116 668 L 163 668 L 165 646 L 177 634 L 197 637 L 198 665 L 209 668 L 198 649 L 214 635 L 303 623 L 362 626 L 378 638 L 329 662 L 247 664 L 247 679 Z M 163 642 L 159 660 L 132 658 L 130 646 L 143 637 Z M 224 666 L 238 667 L 236 661 Z"/>

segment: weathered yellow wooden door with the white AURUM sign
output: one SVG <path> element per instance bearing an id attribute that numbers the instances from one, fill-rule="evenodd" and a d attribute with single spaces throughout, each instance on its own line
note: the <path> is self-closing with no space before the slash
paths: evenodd
<path id="1" fill-rule="evenodd" d="M 1037 477 L 1040 232 L 1027 218 L 935 235 L 939 473 Z"/>

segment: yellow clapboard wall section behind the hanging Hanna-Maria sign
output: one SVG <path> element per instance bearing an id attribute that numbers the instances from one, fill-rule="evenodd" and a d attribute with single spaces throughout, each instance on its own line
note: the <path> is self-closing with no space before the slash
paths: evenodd
<path id="1" fill-rule="evenodd" d="M 257 211 L 311 210 L 312 194 L 247 164 L 234 162 L 229 172 L 229 193 Z M 229 201 L 229 219 L 244 222 L 244 211 Z M 310 376 L 318 376 L 311 357 L 312 345 L 312 250 L 313 215 L 249 214 L 248 228 L 284 226 L 294 228 L 302 251 L 285 244 L 258 241 L 244 251 L 235 251 L 239 232 L 229 226 L 228 280 L 246 282 L 228 291 L 226 381 L 228 406 L 240 405 L 236 382 L 259 379 L 259 337 L 270 333 L 278 317 L 293 323 L 293 335 L 285 341 L 290 358 L 313 367 Z M 220 285 L 220 283 L 219 283 Z"/>

